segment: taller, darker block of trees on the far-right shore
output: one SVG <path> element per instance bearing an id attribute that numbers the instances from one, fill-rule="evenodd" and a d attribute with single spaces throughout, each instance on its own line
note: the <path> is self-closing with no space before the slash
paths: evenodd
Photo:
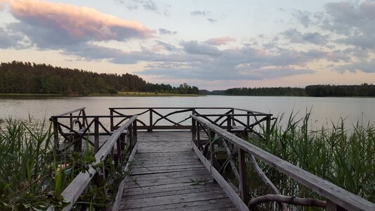
<path id="1" fill-rule="evenodd" d="M 375 96 L 375 85 L 311 85 L 305 91 L 308 96 Z"/>

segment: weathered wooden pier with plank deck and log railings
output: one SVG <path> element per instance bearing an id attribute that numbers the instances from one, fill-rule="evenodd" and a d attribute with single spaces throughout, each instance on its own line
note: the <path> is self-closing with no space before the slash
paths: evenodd
<path id="1" fill-rule="evenodd" d="M 109 158 L 127 175 L 107 178 L 119 184 L 104 210 L 255 210 L 271 203 L 267 209 L 295 210 L 293 206 L 302 205 L 375 211 L 374 203 L 241 139 L 267 139 L 271 114 L 236 108 L 110 108 L 109 113 L 87 115 L 79 108 L 50 119 L 58 151 L 95 152 L 89 170 L 77 174 L 61 193 L 69 201 L 64 210 L 75 206 L 89 184 L 107 178 L 106 170 L 98 173 L 96 165 Z M 258 162 L 319 198 L 282 195 Z M 250 198 L 250 169 L 269 194 Z"/>

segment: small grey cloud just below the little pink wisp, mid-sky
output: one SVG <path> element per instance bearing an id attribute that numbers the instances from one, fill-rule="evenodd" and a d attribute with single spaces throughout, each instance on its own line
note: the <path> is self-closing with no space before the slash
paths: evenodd
<path id="1" fill-rule="evenodd" d="M 181 45 L 184 47 L 186 53 L 203 54 L 208 56 L 220 56 L 221 52 L 215 46 L 205 43 L 198 43 L 198 41 L 182 41 Z"/>

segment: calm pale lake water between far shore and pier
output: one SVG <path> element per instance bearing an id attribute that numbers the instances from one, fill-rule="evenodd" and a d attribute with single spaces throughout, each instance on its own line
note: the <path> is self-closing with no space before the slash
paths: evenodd
<path id="1" fill-rule="evenodd" d="M 322 125 L 345 118 L 352 122 L 375 124 L 375 98 L 312 98 L 278 96 L 199 96 L 199 97 L 74 97 L 74 98 L 0 98 L 0 118 L 37 120 L 75 108 L 86 107 L 87 115 L 108 115 L 110 107 L 234 107 L 272 113 L 298 113 L 312 109 L 311 123 Z"/>

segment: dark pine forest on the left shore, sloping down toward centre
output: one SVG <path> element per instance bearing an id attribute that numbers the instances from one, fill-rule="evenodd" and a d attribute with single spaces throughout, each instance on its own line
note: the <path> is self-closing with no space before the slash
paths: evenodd
<path id="1" fill-rule="evenodd" d="M 117 94 L 118 91 L 198 94 L 198 87 L 152 84 L 137 75 L 106 74 L 52 65 L 13 61 L 0 64 L 0 93 L 4 94 Z"/>

